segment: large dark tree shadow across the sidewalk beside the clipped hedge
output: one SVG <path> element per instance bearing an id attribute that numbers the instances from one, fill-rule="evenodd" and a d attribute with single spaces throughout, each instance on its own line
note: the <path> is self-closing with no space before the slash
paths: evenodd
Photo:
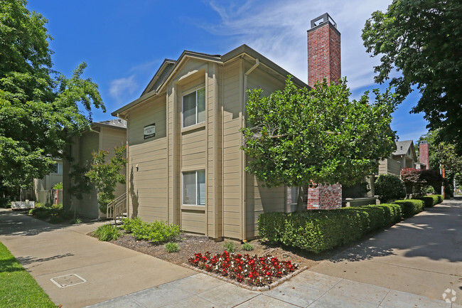
<path id="1" fill-rule="evenodd" d="M 392 228 L 375 233 L 354 247 L 330 257 L 331 262 L 370 260 L 396 255 L 462 262 L 462 208 L 460 201 L 446 201 L 408 218 Z"/>

